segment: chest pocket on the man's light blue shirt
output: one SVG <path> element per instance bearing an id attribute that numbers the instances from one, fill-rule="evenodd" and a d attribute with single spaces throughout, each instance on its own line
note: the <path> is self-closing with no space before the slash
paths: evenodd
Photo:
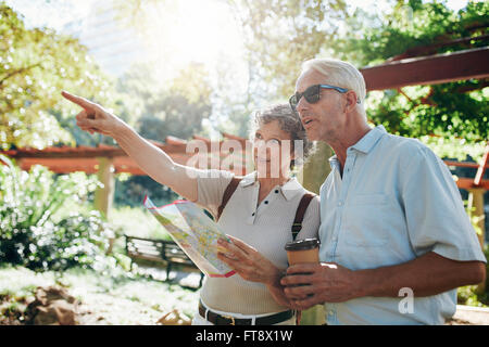
<path id="1" fill-rule="evenodd" d="M 388 226 L 383 220 L 388 214 L 386 194 L 361 194 L 349 201 L 343 214 L 344 243 L 355 247 L 381 247 L 388 241 Z"/>

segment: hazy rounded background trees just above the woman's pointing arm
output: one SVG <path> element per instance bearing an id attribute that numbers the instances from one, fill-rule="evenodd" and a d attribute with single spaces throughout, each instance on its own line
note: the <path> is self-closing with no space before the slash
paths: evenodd
<path id="1" fill-rule="evenodd" d="M 126 117 L 138 132 L 151 140 L 167 136 L 190 139 L 202 130 L 202 119 L 212 112 L 211 87 L 201 65 L 181 70 L 161 86 L 148 64 L 134 66 L 120 78 L 117 90 L 126 105 Z"/>

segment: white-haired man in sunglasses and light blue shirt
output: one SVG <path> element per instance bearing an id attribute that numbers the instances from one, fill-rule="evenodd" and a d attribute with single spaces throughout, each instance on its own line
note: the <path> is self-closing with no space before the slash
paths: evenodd
<path id="1" fill-rule="evenodd" d="M 325 304 L 327 324 L 442 324 L 487 260 L 447 166 L 371 128 L 365 90 L 347 62 L 303 64 L 291 107 L 336 155 L 321 188 L 322 262 L 289 267 L 281 284 L 298 309 Z"/>

